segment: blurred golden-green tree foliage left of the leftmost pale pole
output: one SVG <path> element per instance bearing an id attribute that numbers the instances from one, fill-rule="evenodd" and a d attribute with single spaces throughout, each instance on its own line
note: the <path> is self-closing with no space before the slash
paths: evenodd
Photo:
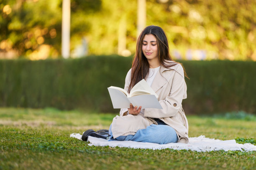
<path id="1" fill-rule="evenodd" d="M 6 3 L 13 10 L 10 14 L 4 13 L 3 10 L 2 17 L 5 22 L 1 22 L 1 32 L 2 29 L 7 32 L 1 33 L 1 40 L 10 42 L 19 55 L 30 55 L 45 47 L 45 44 L 48 45 L 48 51 L 52 50 L 48 55 L 54 54 L 60 48 L 60 0 L 10 0 Z M 6 7 L 6 3 L 1 2 L 1 6 Z"/>

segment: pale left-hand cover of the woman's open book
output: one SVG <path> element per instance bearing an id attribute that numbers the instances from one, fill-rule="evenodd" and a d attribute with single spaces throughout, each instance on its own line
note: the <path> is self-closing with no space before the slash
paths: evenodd
<path id="1" fill-rule="evenodd" d="M 108 92 L 112 100 L 114 109 L 130 108 L 131 102 L 128 100 L 127 96 L 123 92 L 110 87 L 108 87 Z"/>

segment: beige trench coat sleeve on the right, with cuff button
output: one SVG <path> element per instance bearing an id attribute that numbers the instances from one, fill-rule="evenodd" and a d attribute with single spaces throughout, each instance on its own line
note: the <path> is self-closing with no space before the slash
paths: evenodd
<path id="1" fill-rule="evenodd" d="M 181 65 L 178 64 L 174 73 L 174 77 L 172 80 L 170 80 L 169 83 L 172 86 L 170 91 L 166 91 L 166 93 L 168 93 L 167 97 L 164 100 L 159 100 L 163 109 L 145 109 L 145 117 L 172 117 L 176 115 L 177 112 L 180 110 L 180 108 L 182 107 L 182 99 L 187 97 L 187 86 L 184 80 L 183 67 Z"/>

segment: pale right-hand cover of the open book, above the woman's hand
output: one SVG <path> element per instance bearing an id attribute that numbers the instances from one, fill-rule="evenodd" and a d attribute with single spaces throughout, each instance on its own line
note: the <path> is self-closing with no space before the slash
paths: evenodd
<path id="1" fill-rule="evenodd" d="M 163 109 L 155 95 L 137 95 L 128 97 L 133 106 L 141 106 L 141 109 L 156 108 Z"/>

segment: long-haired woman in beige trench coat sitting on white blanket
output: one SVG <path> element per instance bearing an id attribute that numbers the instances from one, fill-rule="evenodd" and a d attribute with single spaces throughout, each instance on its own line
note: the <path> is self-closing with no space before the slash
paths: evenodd
<path id="1" fill-rule="evenodd" d="M 126 75 L 124 89 L 130 92 L 142 79 L 159 96 L 163 109 L 141 110 L 141 106 L 131 104 L 130 108 L 120 110 L 120 116 L 114 117 L 109 135 L 87 130 L 82 138 L 87 140 L 88 136 L 94 136 L 159 144 L 188 143 L 188 122 L 182 109 L 182 99 L 187 98 L 184 69 L 172 60 L 164 30 L 154 25 L 146 27 L 138 38 L 136 55 Z"/>

